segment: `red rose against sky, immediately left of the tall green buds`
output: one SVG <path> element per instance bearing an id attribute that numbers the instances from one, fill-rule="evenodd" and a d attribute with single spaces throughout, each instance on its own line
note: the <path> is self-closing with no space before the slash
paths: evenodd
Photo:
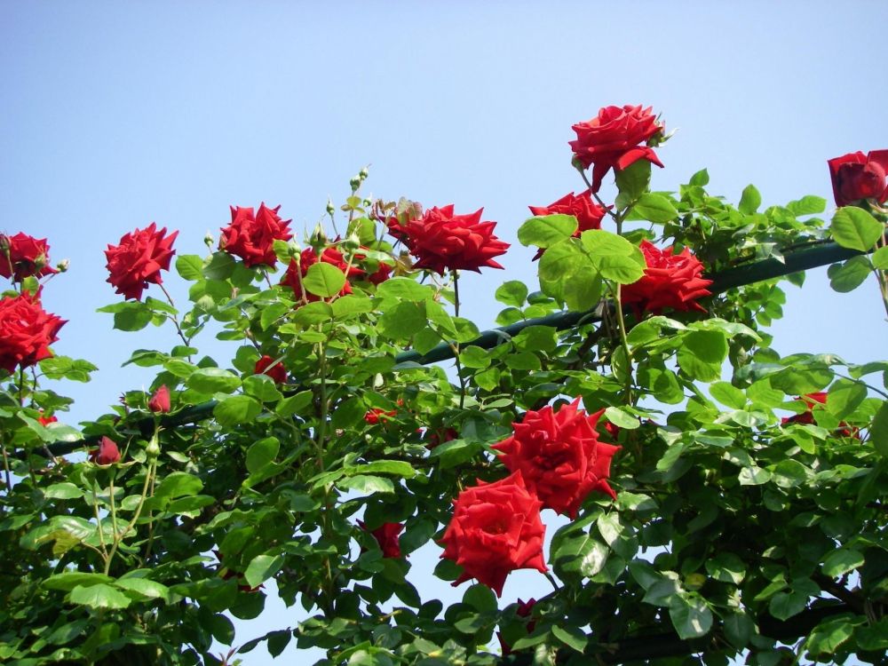
<path id="1" fill-rule="evenodd" d="M 281 220 L 278 210 L 280 206 L 266 208 L 265 203 L 260 203 L 254 216 L 252 207 L 232 206 L 231 224 L 222 229 L 219 250 L 242 258 L 247 266 L 274 266 L 277 263 L 274 242 L 289 241 L 293 237 L 289 232 L 292 220 Z"/>

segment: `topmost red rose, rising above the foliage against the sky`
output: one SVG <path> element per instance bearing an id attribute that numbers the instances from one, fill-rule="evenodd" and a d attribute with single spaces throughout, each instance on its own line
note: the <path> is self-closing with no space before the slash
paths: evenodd
<path id="1" fill-rule="evenodd" d="M 625 169 L 638 160 L 662 167 L 654 149 L 646 143 L 663 130 L 651 107 L 604 107 L 586 123 L 573 126 L 576 140 L 568 141 L 583 169 L 592 164 L 592 192 L 598 192 L 607 171 Z"/>

